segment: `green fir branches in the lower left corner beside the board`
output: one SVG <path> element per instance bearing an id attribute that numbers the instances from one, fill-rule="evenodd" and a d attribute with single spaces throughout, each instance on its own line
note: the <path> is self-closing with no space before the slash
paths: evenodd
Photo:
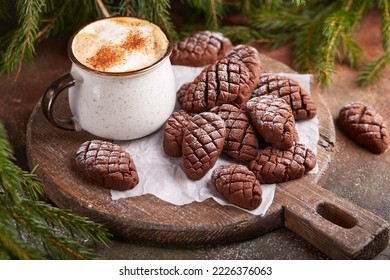
<path id="1" fill-rule="evenodd" d="M 0 255 L 9 258 L 98 258 L 80 239 L 109 244 L 102 225 L 26 196 L 31 188 L 41 195 L 43 185 L 12 160 L 12 146 L 0 122 Z M 42 246 L 44 244 L 45 246 Z M 42 249 L 45 248 L 45 249 Z"/>

